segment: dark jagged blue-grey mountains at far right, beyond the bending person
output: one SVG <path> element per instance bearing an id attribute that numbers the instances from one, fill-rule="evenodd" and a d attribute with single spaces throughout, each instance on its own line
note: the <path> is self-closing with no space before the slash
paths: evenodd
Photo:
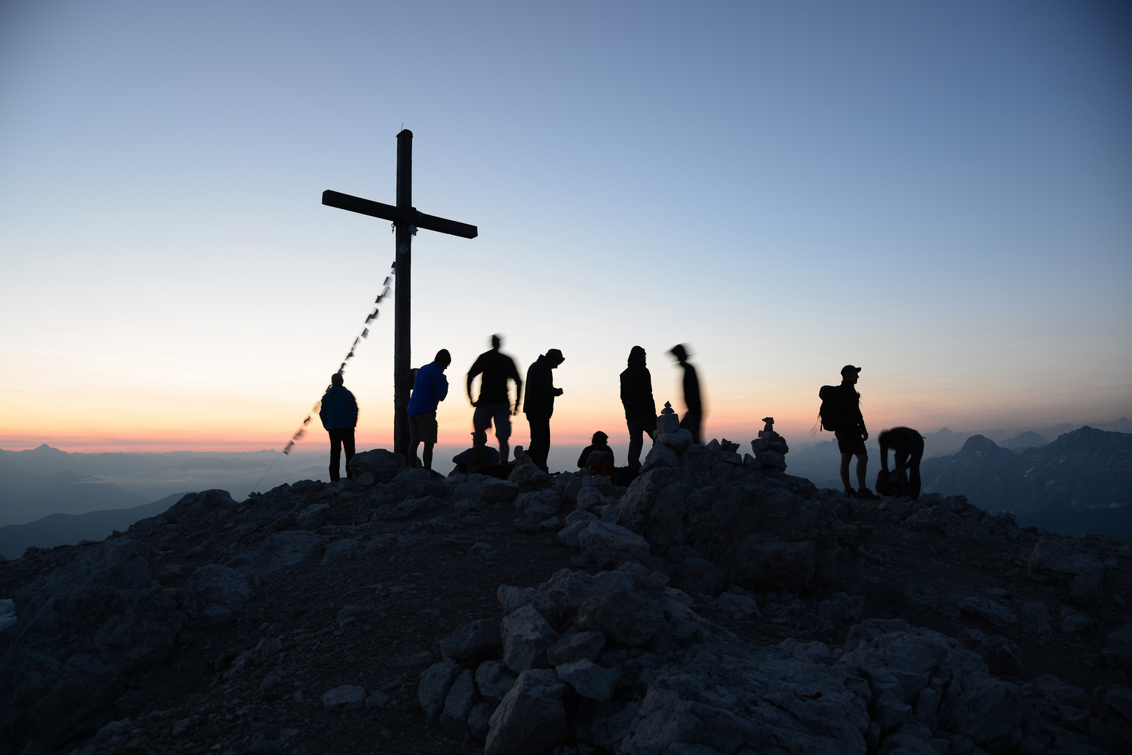
<path id="1" fill-rule="evenodd" d="M 925 489 L 1063 533 L 1132 538 L 1132 435 L 1083 427 L 1020 454 L 980 435 L 925 460 Z"/>

